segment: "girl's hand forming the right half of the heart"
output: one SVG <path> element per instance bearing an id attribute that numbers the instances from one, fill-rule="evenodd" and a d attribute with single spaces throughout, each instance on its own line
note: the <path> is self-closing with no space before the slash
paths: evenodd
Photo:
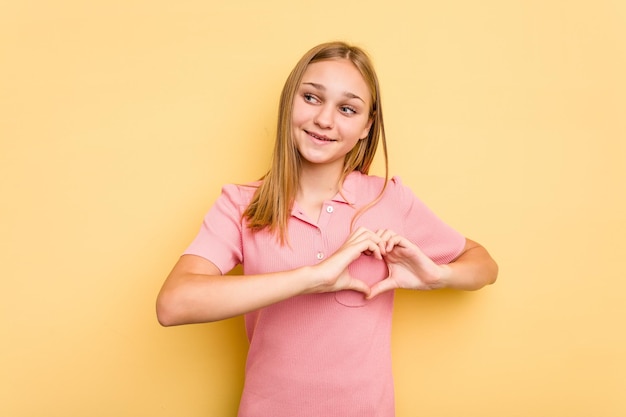
<path id="1" fill-rule="evenodd" d="M 417 245 L 391 230 L 376 233 L 389 276 L 372 286 L 368 299 L 396 288 L 432 290 L 445 286 L 447 265 L 437 265 Z"/>

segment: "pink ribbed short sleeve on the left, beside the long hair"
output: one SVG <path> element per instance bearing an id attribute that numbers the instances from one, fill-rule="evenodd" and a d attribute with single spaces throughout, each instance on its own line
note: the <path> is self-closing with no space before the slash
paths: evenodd
<path id="1" fill-rule="evenodd" d="M 242 214 L 248 201 L 241 188 L 236 185 L 222 188 L 184 255 L 201 256 L 213 262 L 223 274 L 242 263 Z"/>

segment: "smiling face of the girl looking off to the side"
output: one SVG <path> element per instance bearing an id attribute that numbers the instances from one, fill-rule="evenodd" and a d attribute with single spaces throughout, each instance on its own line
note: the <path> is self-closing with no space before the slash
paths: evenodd
<path id="1" fill-rule="evenodd" d="M 371 94 L 346 59 L 310 64 L 293 104 L 293 137 L 303 164 L 343 168 L 344 157 L 370 126 Z"/>

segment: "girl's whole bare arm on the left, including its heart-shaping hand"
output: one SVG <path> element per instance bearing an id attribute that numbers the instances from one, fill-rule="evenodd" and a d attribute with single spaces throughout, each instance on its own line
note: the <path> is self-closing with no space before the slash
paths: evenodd
<path id="1" fill-rule="evenodd" d="M 369 287 L 348 273 L 348 265 L 371 253 L 382 259 L 380 237 L 355 231 L 324 262 L 290 271 L 259 275 L 222 275 L 209 260 L 183 255 L 157 297 L 157 318 L 163 326 L 203 323 L 245 314 L 288 298 L 351 289 L 369 294 Z"/>

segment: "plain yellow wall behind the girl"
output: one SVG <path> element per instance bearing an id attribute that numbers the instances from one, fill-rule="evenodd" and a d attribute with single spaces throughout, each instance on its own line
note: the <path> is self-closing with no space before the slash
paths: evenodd
<path id="1" fill-rule="evenodd" d="M 155 296 L 334 39 L 377 64 L 392 173 L 500 264 L 398 294 L 398 417 L 626 415 L 625 4 L 3 1 L 0 415 L 235 415 L 242 320 Z"/>

